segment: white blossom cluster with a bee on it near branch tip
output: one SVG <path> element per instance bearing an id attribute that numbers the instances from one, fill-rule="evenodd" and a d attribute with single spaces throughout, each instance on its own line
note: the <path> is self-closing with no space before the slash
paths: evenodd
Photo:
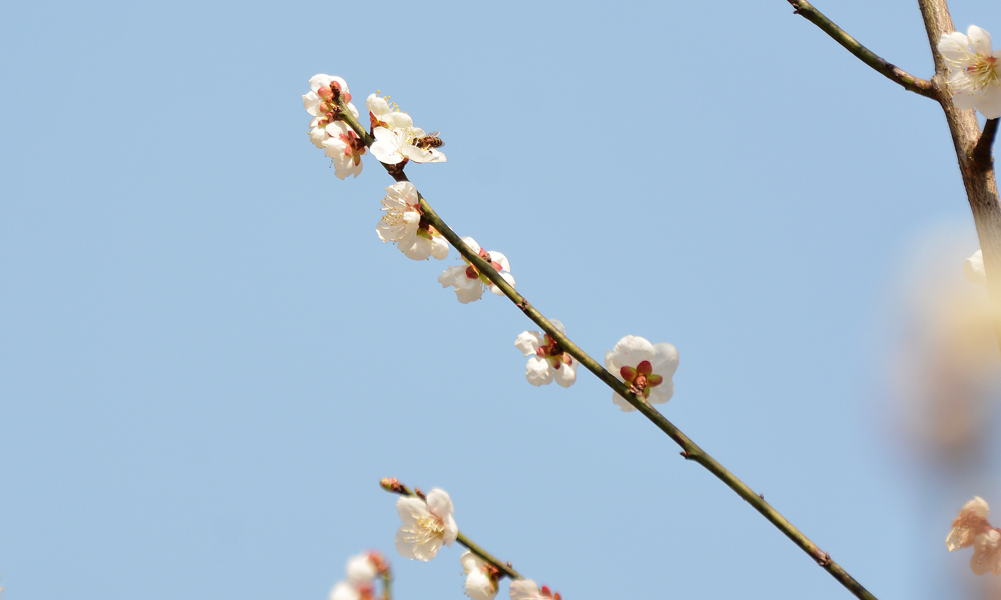
<path id="1" fill-rule="evenodd" d="M 424 130 L 413 126 L 410 115 L 399 112 L 396 105 L 386 100 L 372 94 L 365 101 L 375 138 L 371 145 L 372 156 L 387 165 L 404 160 L 444 162 L 444 154 L 427 145 Z"/>

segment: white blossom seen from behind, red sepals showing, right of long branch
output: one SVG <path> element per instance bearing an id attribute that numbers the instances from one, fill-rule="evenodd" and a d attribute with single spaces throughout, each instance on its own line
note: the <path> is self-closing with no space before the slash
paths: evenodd
<path id="1" fill-rule="evenodd" d="M 642 337 L 627 335 L 615 348 L 605 351 L 605 368 L 651 404 L 663 404 L 675 393 L 671 378 L 678 370 L 678 350 L 667 342 L 651 344 Z M 623 412 L 636 410 L 616 392 L 612 393 L 612 401 Z"/>

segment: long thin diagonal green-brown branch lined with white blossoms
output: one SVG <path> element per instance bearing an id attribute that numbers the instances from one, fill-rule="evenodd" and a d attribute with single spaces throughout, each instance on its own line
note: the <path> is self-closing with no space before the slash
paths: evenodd
<path id="1" fill-rule="evenodd" d="M 343 109 L 344 107 L 342 107 Z M 362 136 L 364 129 L 361 125 L 354 119 L 350 112 L 346 109 L 342 110 L 343 120 L 355 130 L 358 136 L 365 139 Z M 370 139 L 370 138 L 368 138 Z M 406 175 L 403 173 L 402 169 L 395 165 L 382 165 L 385 167 L 386 171 L 395 179 L 396 181 L 408 181 Z M 543 316 L 528 300 L 525 299 L 520 293 L 515 291 L 500 274 L 493 270 L 493 267 L 489 262 L 480 258 L 475 252 L 473 252 L 465 242 L 452 231 L 451 227 L 447 225 L 444 221 L 438 217 L 434 209 L 431 208 L 430 204 L 424 199 L 424 197 L 417 192 L 417 198 L 420 202 L 421 218 L 426 219 L 427 222 L 434 227 L 445 240 L 448 241 L 459 254 L 467 260 L 472 266 L 476 268 L 480 273 L 486 276 L 497 288 L 504 292 L 512 302 L 515 303 L 522 312 L 526 314 L 534 323 L 539 325 L 546 333 L 560 344 L 563 349 L 577 359 L 582 365 L 584 365 L 589 371 L 595 374 L 599 379 L 605 382 L 613 391 L 625 398 L 630 404 L 633 405 L 638 411 L 643 413 L 651 422 L 653 422 L 661 431 L 666 433 L 668 437 L 675 441 L 676 444 L 681 446 L 681 455 L 688 460 L 695 461 L 705 467 L 710 473 L 716 475 L 723 483 L 725 483 L 730 489 L 737 493 L 741 498 L 743 498 L 748 504 L 753 506 L 755 510 L 760 512 L 770 523 L 775 525 L 782 533 L 793 541 L 797 546 L 800 547 L 804 552 L 806 552 L 811 558 L 817 561 L 817 564 L 824 567 L 828 573 L 831 574 L 835 579 L 837 579 L 842 585 L 848 588 L 857 597 L 863 600 L 876 600 L 876 597 L 869 593 L 862 584 L 855 580 L 851 575 L 845 571 L 838 563 L 831 560 L 831 555 L 821 550 L 817 544 L 813 543 L 810 538 L 804 535 L 799 529 L 793 526 L 785 517 L 783 517 L 779 511 L 772 508 L 772 505 L 765 501 L 764 496 L 760 496 L 754 492 L 750 487 L 748 487 L 743 481 L 738 479 L 733 473 L 728 471 L 716 461 L 712 456 L 710 456 L 706 451 L 696 445 L 687 435 L 682 433 L 680 429 L 674 426 L 671 421 L 664 417 L 656 408 L 654 408 L 647 400 L 642 396 L 633 393 L 630 388 L 620 381 L 615 375 L 610 373 L 606 368 L 596 361 L 594 358 L 588 355 L 584 350 L 578 347 L 573 341 L 570 340 L 566 335 L 564 335 L 559 329 L 553 326 L 553 323 Z M 385 487 L 383 485 L 383 487 Z M 397 492 L 399 493 L 399 492 Z M 410 492 L 412 494 L 412 492 Z M 462 542 L 462 539 L 459 539 Z M 468 540 L 463 542 L 463 545 L 475 553 L 477 556 L 490 562 L 493 566 L 500 568 L 499 563 L 492 557 L 488 557 L 485 553 L 480 554 L 478 547 L 473 547 Z M 480 550 L 481 551 L 481 550 Z M 510 568 L 510 567 L 509 567 Z M 507 573 L 507 569 L 502 569 L 503 572 Z M 517 576 L 517 573 L 515 573 Z"/>

